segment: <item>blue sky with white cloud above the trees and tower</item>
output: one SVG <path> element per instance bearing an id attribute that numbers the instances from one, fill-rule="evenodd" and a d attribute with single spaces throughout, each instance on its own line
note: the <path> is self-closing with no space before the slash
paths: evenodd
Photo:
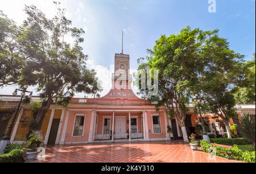
<path id="1" fill-rule="evenodd" d="M 48 16 L 55 7 L 52 1 L 0 0 L 0 10 L 21 23 L 24 4 L 33 3 Z M 112 73 L 114 53 L 121 52 L 124 30 L 124 53 L 130 55 L 131 69 L 137 68 L 137 59 L 146 56 L 160 35 L 177 34 L 181 28 L 191 26 L 201 30 L 218 28 L 227 38 L 230 48 L 249 60 L 255 52 L 255 0 L 216 0 L 216 13 L 208 12 L 208 0 L 94 0 L 60 1 L 67 8 L 68 18 L 77 27 L 84 28 L 84 52 L 89 55 L 88 65 L 96 68 L 105 86 L 106 73 Z M 15 7 L 13 6 L 15 4 Z M 108 81 L 108 82 L 106 82 Z M 0 89 L 10 93 L 12 88 Z M 105 94 L 109 87 L 105 87 Z M 81 97 L 80 94 L 77 96 Z"/>

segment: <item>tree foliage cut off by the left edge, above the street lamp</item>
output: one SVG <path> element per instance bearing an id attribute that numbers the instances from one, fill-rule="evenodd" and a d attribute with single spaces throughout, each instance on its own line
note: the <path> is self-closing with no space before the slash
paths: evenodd
<path id="1" fill-rule="evenodd" d="M 20 28 L 0 10 L 0 88 L 18 83 L 26 57 L 21 56 L 16 38 Z"/>

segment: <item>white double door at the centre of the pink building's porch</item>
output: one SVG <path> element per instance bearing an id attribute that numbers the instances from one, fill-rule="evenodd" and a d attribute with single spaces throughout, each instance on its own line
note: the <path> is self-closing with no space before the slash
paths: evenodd
<path id="1" fill-rule="evenodd" d="M 114 138 L 127 138 L 126 134 L 126 117 L 115 117 Z"/>

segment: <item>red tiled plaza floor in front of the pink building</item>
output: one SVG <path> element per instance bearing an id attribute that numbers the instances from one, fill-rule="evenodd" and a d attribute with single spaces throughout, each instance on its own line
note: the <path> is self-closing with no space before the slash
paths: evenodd
<path id="1" fill-rule="evenodd" d="M 182 142 L 133 142 L 82 144 L 46 148 L 46 160 L 34 162 L 62 163 L 234 163 L 216 156 L 208 159 L 208 154 L 200 150 L 192 151 Z"/>

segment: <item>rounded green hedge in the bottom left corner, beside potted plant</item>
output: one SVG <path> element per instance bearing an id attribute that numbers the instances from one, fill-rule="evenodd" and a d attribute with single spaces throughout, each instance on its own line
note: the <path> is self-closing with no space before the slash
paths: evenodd
<path id="1" fill-rule="evenodd" d="M 0 155 L 0 163 L 18 163 L 23 162 L 23 148 L 16 144 L 10 144 L 4 150 L 4 154 Z"/>

